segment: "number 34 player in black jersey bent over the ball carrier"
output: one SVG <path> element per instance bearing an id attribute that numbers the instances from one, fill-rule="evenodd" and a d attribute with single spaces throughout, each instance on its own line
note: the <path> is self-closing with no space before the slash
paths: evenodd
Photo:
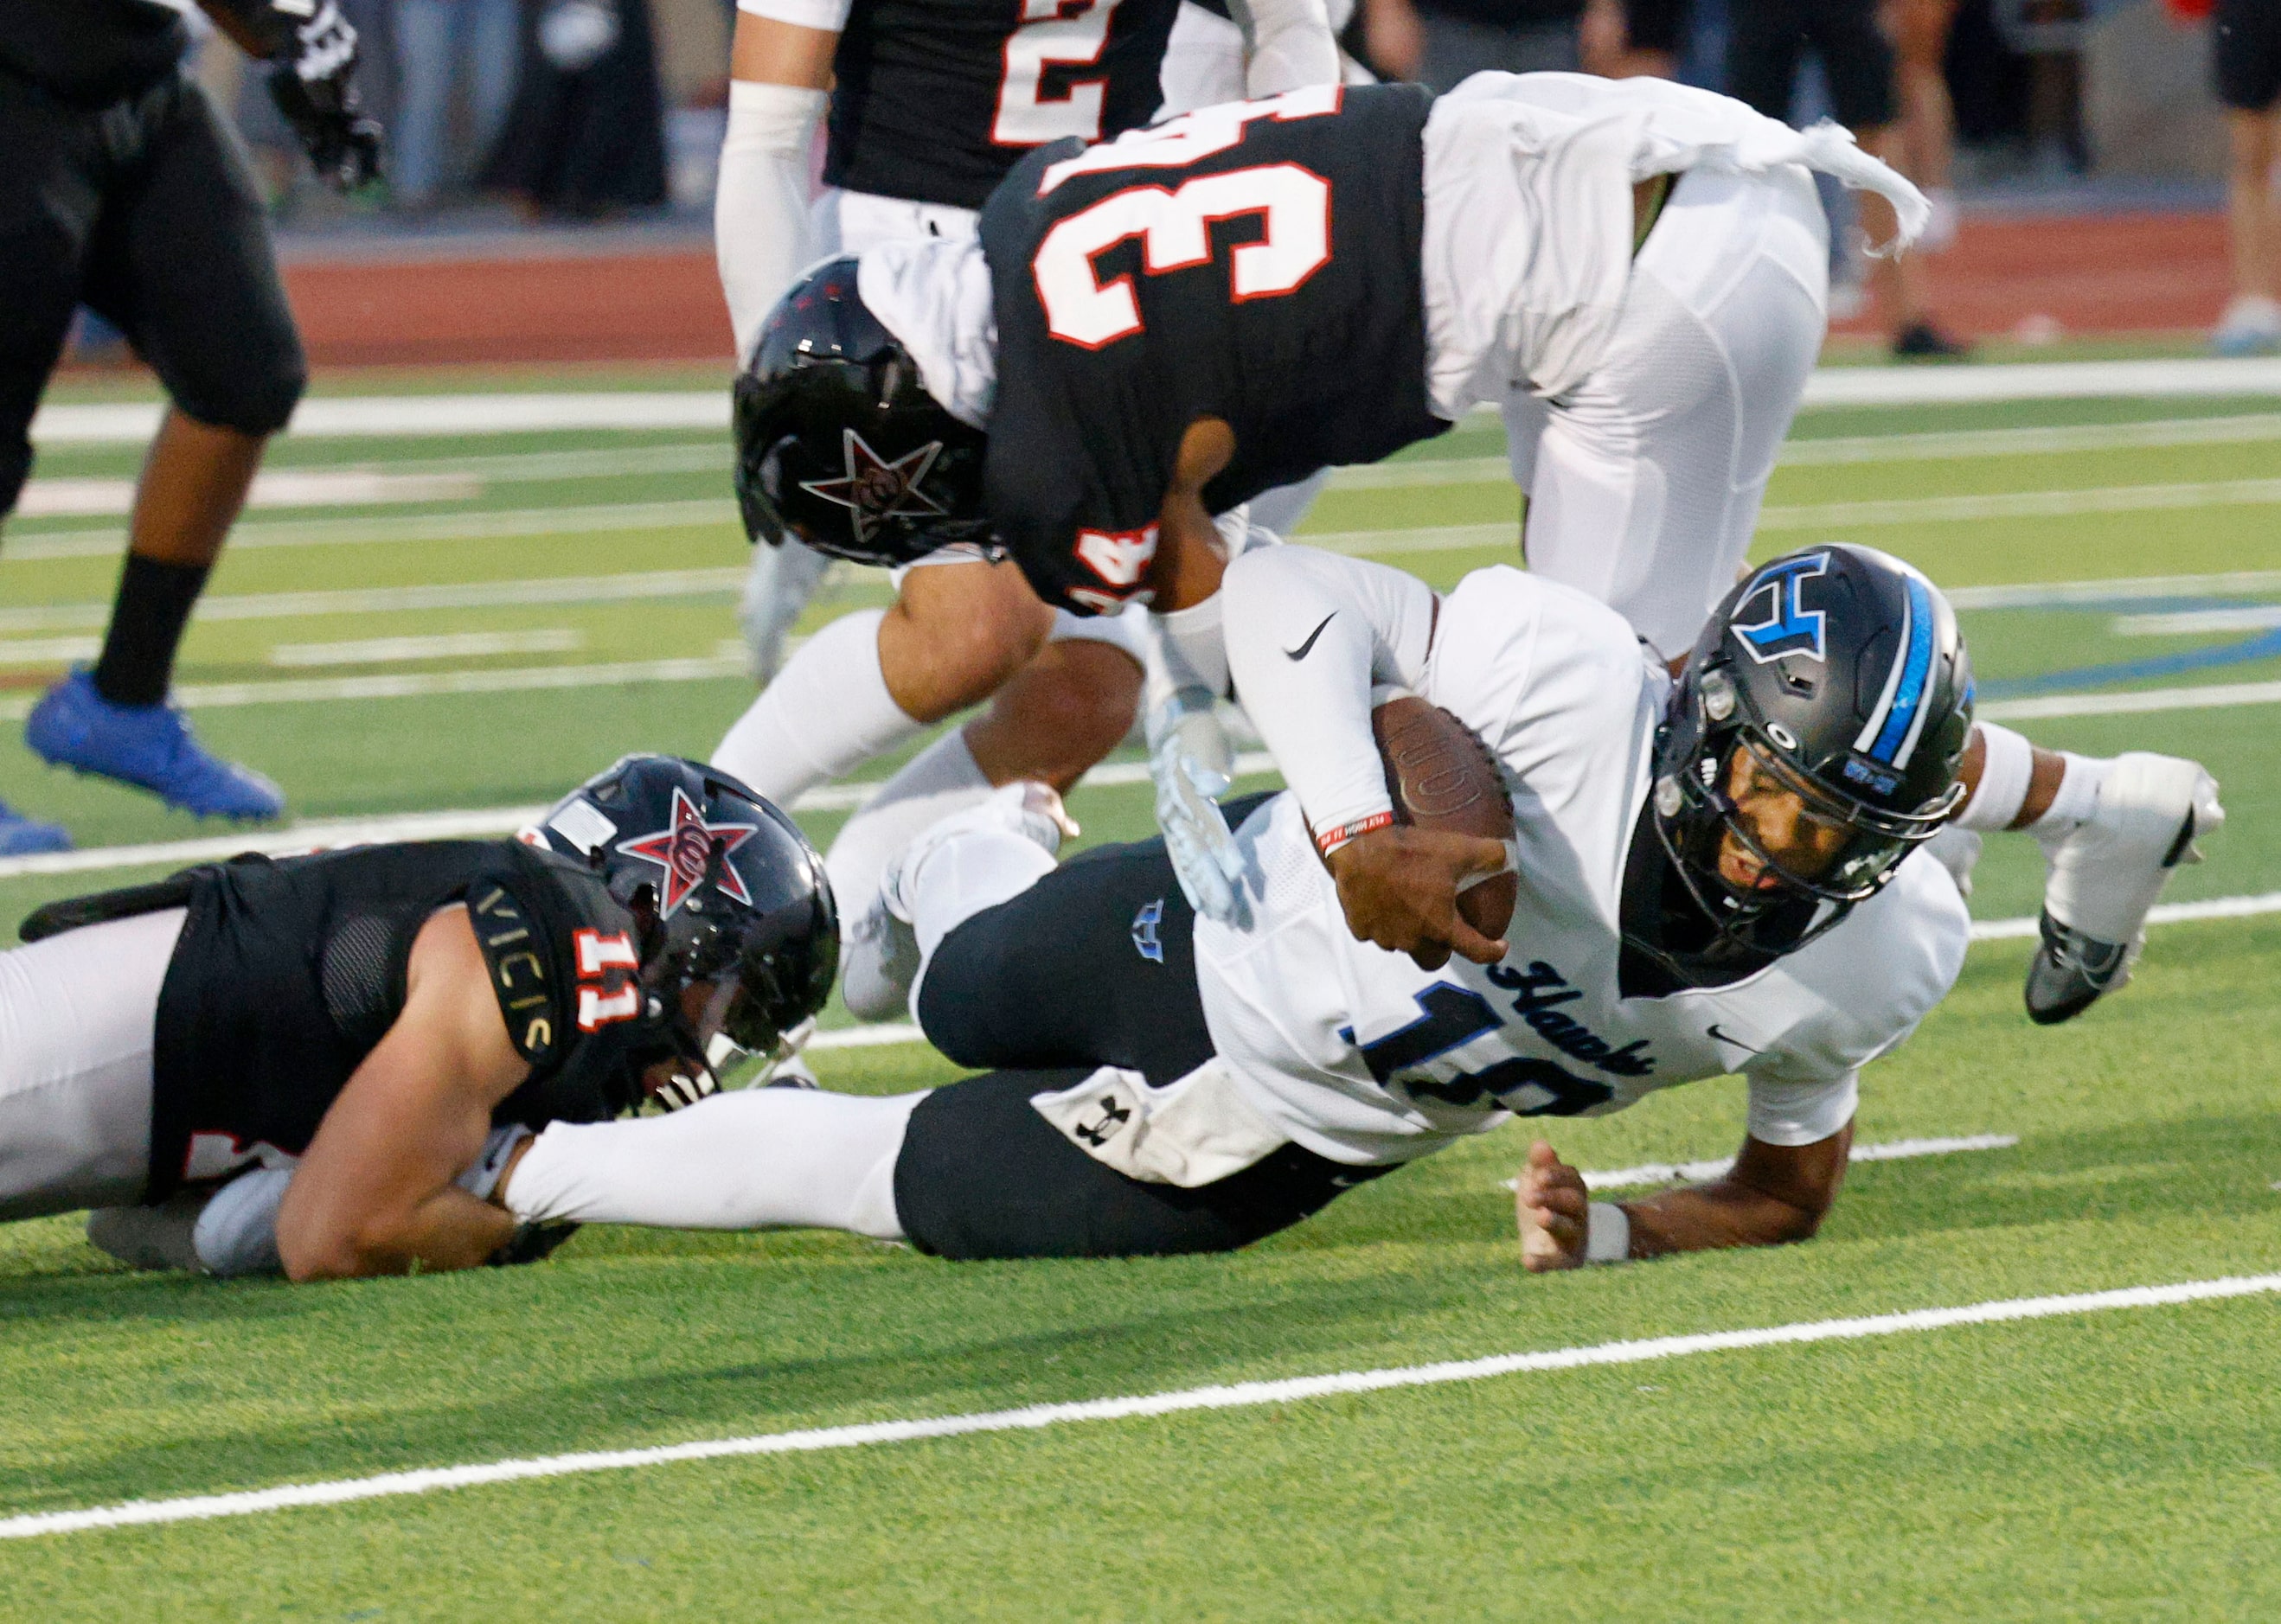
<path id="1" fill-rule="evenodd" d="M 1519 399 L 1576 509 L 1549 515 L 1542 550 L 1531 511 L 1531 568 L 1683 650 L 1743 559 L 1820 338 L 1809 169 L 1923 221 L 1843 130 L 1642 80 L 1307 89 L 1049 146 L 992 194 L 979 244 L 880 244 L 778 306 L 739 379 L 746 522 L 871 561 L 965 538 L 1065 609 L 1147 604 L 1159 823 L 1188 899 L 1232 919 L 1211 703 L 1229 691 L 1220 573 L 1255 541 L 1241 504 Z M 1665 429 L 1645 422 L 1654 401 Z M 1656 438 L 1661 461 L 1569 417 Z M 2215 782 L 1996 725 L 1966 782 L 1969 844 L 2028 828 L 2051 853 L 2028 1004 L 2067 1020 L 2128 976 L 2185 833 L 2219 817 Z M 1350 833 L 1323 830 L 1325 848 Z M 1391 892 L 1417 880 L 1398 846 L 1380 830 L 1341 864 Z M 878 910 L 849 912 L 860 947 Z M 869 963 L 851 951 L 858 1013 Z"/>

